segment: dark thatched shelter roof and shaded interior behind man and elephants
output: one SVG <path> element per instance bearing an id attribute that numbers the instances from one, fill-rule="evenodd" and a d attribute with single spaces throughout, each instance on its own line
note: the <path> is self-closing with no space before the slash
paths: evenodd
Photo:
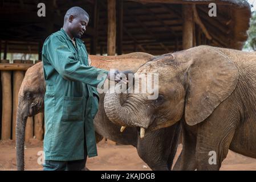
<path id="1" fill-rule="evenodd" d="M 63 24 L 66 10 L 72 6 L 83 7 L 94 19 L 96 0 L 52 1 L 46 0 L 46 17 L 37 16 L 36 0 L 12 0 L 0 3 L 1 52 L 7 40 L 9 52 L 36 53 L 39 43 Z M 94 27 L 91 20 L 83 37 L 88 52 L 91 40 L 97 37 L 97 53 L 107 48 L 107 0 L 98 0 L 99 21 Z M 120 0 L 117 0 L 119 6 Z M 217 4 L 217 17 L 209 17 L 208 4 Z M 142 51 L 153 55 L 182 49 L 182 4 L 195 3 L 198 15 L 212 40 L 201 41 L 218 47 L 241 49 L 247 39 L 250 5 L 241 0 L 124 0 L 123 1 L 123 53 Z M 118 7 L 117 7 L 118 9 Z M 117 21 L 118 21 L 117 12 Z M 205 39 L 196 26 L 197 40 Z M 118 36 L 119 32 L 117 32 Z M 198 38 L 200 36 L 200 38 Z"/>

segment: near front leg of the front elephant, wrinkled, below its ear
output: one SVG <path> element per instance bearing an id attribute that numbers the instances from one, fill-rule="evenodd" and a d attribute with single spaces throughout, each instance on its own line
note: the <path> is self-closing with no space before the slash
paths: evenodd
<path id="1" fill-rule="evenodd" d="M 219 170 L 226 158 L 240 119 L 239 111 L 230 107 L 220 105 L 209 118 L 198 124 L 197 170 Z"/>

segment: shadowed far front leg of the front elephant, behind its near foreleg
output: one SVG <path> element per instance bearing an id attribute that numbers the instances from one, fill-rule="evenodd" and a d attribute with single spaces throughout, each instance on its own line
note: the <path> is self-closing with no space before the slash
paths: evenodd
<path id="1" fill-rule="evenodd" d="M 173 167 L 173 171 L 194 171 L 196 169 L 196 129 L 189 128 L 185 122 L 182 122 L 181 134 L 182 151 Z"/>

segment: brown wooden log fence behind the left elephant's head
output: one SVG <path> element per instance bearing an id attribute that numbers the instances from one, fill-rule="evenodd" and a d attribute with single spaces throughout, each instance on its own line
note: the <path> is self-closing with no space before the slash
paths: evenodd
<path id="1" fill-rule="evenodd" d="M 35 61 L 35 63 L 38 63 Z M 10 64 L 9 60 L 0 61 L 1 89 L 0 89 L 0 114 L 2 115 L 1 140 L 15 140 L 16 115 L 18 107 L 18 93 L 21 87 L 25 72 L 33 65 L 31 60 L 14 60 Z M 31 138 L 43 140 L 44 123 L 43 114 L 36 114 L 27 118 L 25 141 Z"/>

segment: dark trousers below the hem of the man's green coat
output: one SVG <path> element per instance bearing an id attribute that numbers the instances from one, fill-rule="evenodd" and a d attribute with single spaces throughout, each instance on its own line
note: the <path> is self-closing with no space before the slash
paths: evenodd
<path id="1" fill-rule="evenodd" d="M 43 171 L 82 171 L 86 167 L 87 148 L 84 143 L 84 159 L 58 161 L 58 160 L 45 160 L 43 164 Z"/>

